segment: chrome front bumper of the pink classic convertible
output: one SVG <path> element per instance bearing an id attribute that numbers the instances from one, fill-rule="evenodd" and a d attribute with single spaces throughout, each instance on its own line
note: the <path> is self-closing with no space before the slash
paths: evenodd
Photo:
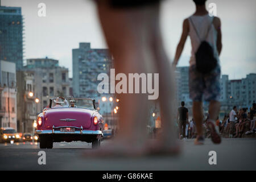
<path id="1" fill-rule="evenodd" d="M 47 134 L 77 134 L 77 135 L 101 135 L 103 137 L 103 133 L 100 130 L 82 130 L 82 131 L 75 131 L 75 132 L 63 132 L 63 131 L 56 131 L 56 130 L 36 130 L 35 134 L 37 135 L 47 135 Z"/>

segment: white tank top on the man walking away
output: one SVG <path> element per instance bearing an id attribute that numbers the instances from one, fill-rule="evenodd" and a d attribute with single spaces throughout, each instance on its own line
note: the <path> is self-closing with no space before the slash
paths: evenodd
<path id="1" fill-rule="evenodd" d="M 219 58 L 218 58 L 218 51 L 217 51 L 217 31 L 212 23 L 214 16 L 209 16 L 207 15 L 203 15 L 203 16 L 197 16 L 197 15 L 192 15 L 188 18 L 188 22 L 189 22 L 189 33 L 188 35 L 190 36 L 191 39 L 191 57 L 190 57 L 190 61 L 189 61 L 189 65 L 195 65 L 196 64 L 196 59 L 195 59 L 195 53 L 197 51 L 197 49 L 200 46 L 200 39 L 206 40 L 210 46 L 212 46 L 213 51 L 214 51 L 214 57 L 216 57 L 217 61 L 219 62 Z M 193 24 L 196 28 L 194 28 L 193 24 L 191 23 L 191 19 L 193 21 Z M 207 35 L 207 31 L 209 28 L 209 33 Z M 199 37 L 196 34 L 199 34 Z"/>

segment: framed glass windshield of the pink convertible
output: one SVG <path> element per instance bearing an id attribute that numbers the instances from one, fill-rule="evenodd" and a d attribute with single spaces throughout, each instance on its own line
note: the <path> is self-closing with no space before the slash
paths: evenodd
<path id="1" fill-rule="evenodd" d="M 93 100 L 89 98 L 65 98 L 65 100 L 68 101 L 68 105 L 66 103 L 61 103 L 60 105 L 57 105 L 54 101 L 52 101 L 51 108 L 67 108 L 67 107 L 73 107 L 73 108 L 82 108 L 82 109 L 94 109 Z M 63 101 L 64 102 L 64 101 Z"/>

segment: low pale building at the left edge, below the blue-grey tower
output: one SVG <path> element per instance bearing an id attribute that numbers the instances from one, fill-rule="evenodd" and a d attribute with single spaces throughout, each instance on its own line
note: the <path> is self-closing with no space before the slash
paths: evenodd
<path id="1" fill-rule="evenodd" d="M 16 68 L 15 63 L 0 60 L 0 127 L 16 126 Z"/>

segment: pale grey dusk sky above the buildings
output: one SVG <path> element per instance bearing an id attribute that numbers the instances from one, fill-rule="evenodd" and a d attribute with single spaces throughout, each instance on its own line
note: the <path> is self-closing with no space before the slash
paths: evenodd
<path id="1" fill-rule="evenodd" d="M 46 4 L 46 17 L 38 16 L 38 4 Z M 256 73 L 256 1 L 216 0 L 222 22 L 222 74 L 232 79 Z M 2 0 L 2 6 L 22 7 L 24 17 L 24 59 L 46 57 L 59 60 L 72 77 L 72 48 L 90 42 L 92 48 L 107 48 L 91 0 Z M 195 11 L 192 0 L 162 1 L 161 27 L 170 61 L 181 35 L 183 19 Z M 189 38 L 178 66 L 188 66 Z"/>

